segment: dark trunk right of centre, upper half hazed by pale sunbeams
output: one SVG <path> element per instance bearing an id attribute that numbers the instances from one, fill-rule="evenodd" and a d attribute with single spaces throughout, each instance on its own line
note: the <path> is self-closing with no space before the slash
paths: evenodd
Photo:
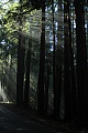
<path id="1" fill-rule="evenodd" d="M 53 8 L 53 23 L 54 23 L 54 8 Z M 58 30 L 59 30 L 59 23 L 58 23 Z M 53 31 L 53 33 L 54 33 L 54 51 L 53 51 L 54 115 L 58 120 L 59 110 L 61 110 L 61 90 L 62 90 L 62 51 L 59 50 L 61 45 L 58 43 L 56 49 L 55 32 Z M 57 42 L 59 42 L 58 34 L 57 34 Z"/>

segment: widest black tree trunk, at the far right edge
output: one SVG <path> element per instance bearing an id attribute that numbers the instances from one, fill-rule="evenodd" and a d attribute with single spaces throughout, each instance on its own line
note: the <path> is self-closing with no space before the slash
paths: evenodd
<path id="1" fill-rule="evenodd" d="M 77 116 L 78 122 L 86 122 L 86 82 L 87 82 L 87 49 L 85 32 L 84 0 L 75 0 L 76 44 L 77 44 Z"/>

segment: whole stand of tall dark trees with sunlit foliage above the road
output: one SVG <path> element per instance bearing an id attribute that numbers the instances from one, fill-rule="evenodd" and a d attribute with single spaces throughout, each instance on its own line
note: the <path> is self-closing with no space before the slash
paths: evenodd
<path id="1" fill-rule="evenodd" d="M 10 102 L 88 124 L 88 0 L 0 0 L 0 79 Z"/>

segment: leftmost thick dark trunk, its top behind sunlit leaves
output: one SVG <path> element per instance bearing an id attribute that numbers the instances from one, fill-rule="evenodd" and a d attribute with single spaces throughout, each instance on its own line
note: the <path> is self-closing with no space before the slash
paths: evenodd
<path id="1" fill-rule="evenodd" d="M 22 4 L 22 0 L 20 0 Z M 20 8 L 20 12 L 22 8 Z M 16 73 L 16 105 L 23 106 L 23 82 L 24 82 L 24 57 L 25 57 L 25 39 L 22 35 L 22 18 L 19 16 L 19 44 L 18 44 L 18 73 Z"/>

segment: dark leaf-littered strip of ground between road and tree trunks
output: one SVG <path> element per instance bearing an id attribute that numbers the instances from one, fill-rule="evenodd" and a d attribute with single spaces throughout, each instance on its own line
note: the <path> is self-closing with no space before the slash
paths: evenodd
<path id="1" fill-rule="evenodd" d="M 0 103 L 25 120 L 31 120 L 61 133 L 88 133 L 88 129 L 77 126 L 75 122 L 55 121 L 52 116 L 40 116 L 32 109 L 16 108 L 15 104 Z"/>

